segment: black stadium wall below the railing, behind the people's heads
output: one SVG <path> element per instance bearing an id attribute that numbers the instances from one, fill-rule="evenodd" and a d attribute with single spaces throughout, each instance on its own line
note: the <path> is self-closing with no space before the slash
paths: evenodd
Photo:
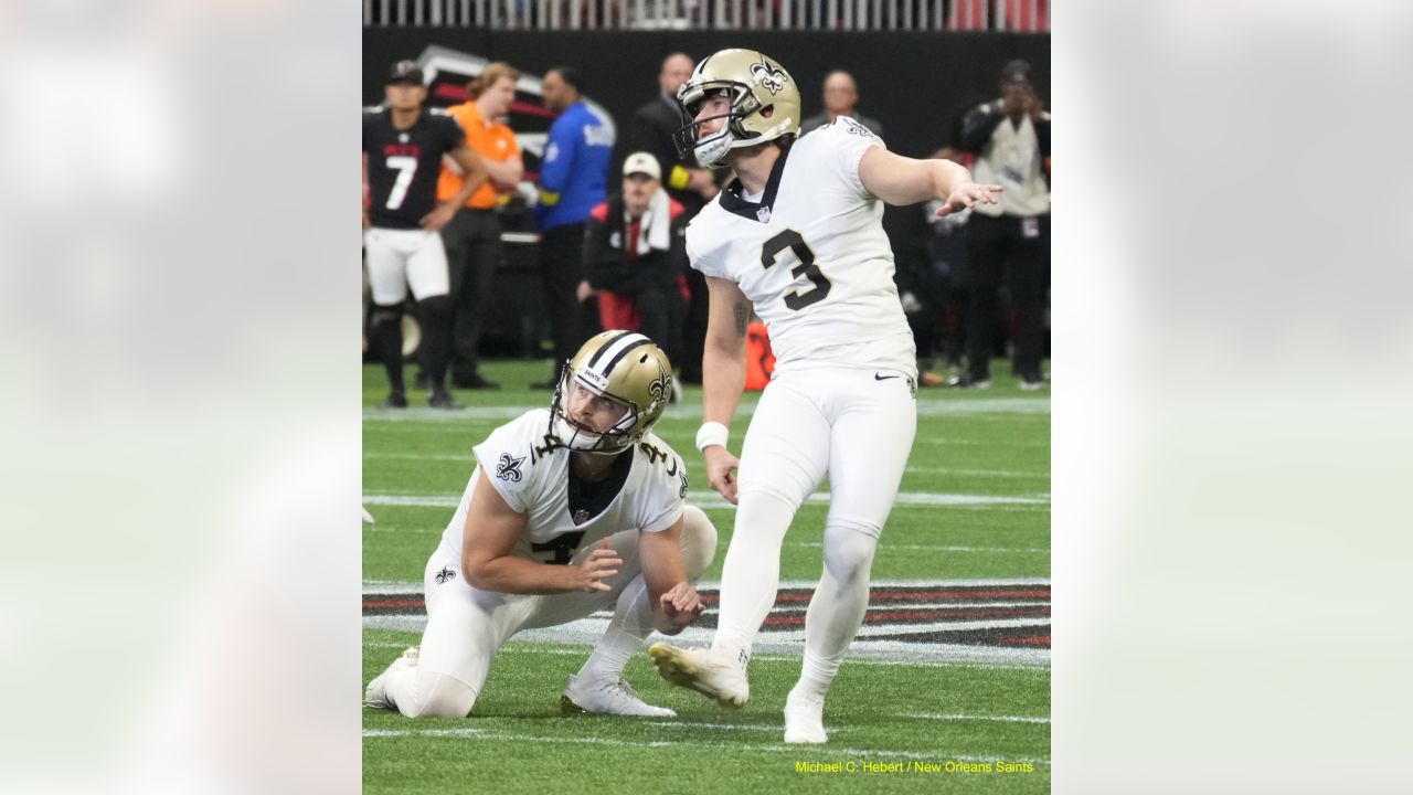
<path id="1" fill-rule="evenodd" d="M 947 143 L 947 126 L 966 103 L 995 96 L 996 75 L 1012 58 L 1030 61 L 1041 99 L 1050 98 L 1048 34 L 363 28 L 363 102 L 382 102 L 389 65 L 415 59 L 428 45 L 509 61 L 537 76 L 574 66 L 589 98 L 620 127 L 653 96 L 668 52 L 701 58 L 726 47 L 756 47 L 800 82 L 807 117 L 822 110 L 824 75 L 846 69 L 859 85 L 859 112 L 886 127 L 889 149 L 910 157 Z"/>

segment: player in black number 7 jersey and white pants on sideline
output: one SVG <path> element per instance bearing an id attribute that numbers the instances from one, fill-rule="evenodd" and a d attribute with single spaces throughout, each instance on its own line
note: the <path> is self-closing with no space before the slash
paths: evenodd
<path id="1" fill-rule="evenodd" d="M 383 359 L 391 393 L 383 406 L 407 407 L 403 385 L 403 301 L 411 286 L 422 321 L 431 406 L 459 407 L 447 392 L 452 306 L 447 249 L 438 233 L 486 180 L 486 166 L 445 110 L 424 109 L 422 71 L 398 61 L 387 78 L 387 106 L 363 113 L 370 207 L 363 212 L 367 276 L 373 287 L 369 345 Z M 437 177 L 449 154 L 466 174 L 461 192 L 437 205 Z"/>

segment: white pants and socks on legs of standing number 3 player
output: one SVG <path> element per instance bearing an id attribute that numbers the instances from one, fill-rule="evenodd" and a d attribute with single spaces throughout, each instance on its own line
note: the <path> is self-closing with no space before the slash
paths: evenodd
<path id="1" fill-rule="evenodd" d="M 818 368 L 781 372 L 746 430 L 736 525 L 712 648 L 746 662 L 776 601 L 780 546 L 796 511 L 829 478 L 824 573 L 805 614 L 803 680 L 822 692 L 869 601 L 869 570 L 917 431 L 910 373 Z"/>

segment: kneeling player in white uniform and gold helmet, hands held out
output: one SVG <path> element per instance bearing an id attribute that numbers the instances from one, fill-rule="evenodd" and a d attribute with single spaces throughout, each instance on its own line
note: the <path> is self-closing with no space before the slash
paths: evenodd
<path id="1" fill-rule="evenodd" d="M 649 632 L 697 621 L 692 584 L 716 552 L 716 529 L 684 502 L 685 465 L 650 433 L 671 373 L 647 337 L 605 331 L 565 362 L 548 410 L 475 447 L 471 482 L 427 562 L 421 646 L 369 682 L 369 706 L 465 717 L 507 638 L 613 607 L 561 709 L 675 716 L 620 678 Z"/>

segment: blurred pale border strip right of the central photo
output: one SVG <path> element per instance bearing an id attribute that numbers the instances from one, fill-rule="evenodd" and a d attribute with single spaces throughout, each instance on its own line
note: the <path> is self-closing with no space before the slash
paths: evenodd
<path id="1" fill-rule="evenodd" d="M 1056 4 L 1056 792 L 1410 789 L 1410 23 Z"/>

